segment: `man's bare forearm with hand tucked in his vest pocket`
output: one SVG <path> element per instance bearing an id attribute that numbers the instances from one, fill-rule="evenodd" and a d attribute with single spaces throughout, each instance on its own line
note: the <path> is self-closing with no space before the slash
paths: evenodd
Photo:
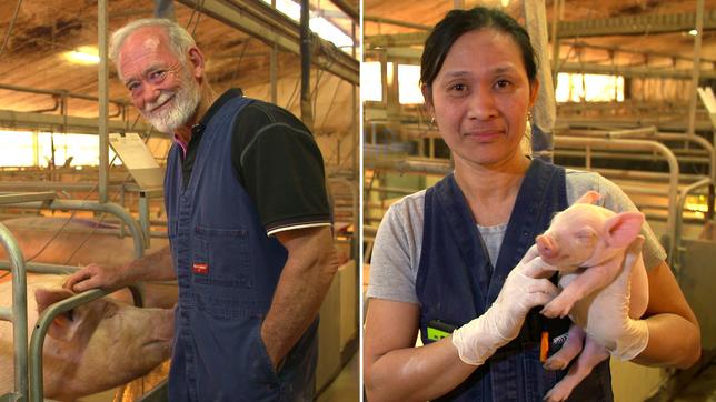
<path id="1" fill-rule="evenodd" d="M 288 260 L 281 272 L 271 308 L 261 326 L 261 339 L 274 366 L 278 366 L 316 319 L 338 261 L 328 229 L 287 243 Z"/>

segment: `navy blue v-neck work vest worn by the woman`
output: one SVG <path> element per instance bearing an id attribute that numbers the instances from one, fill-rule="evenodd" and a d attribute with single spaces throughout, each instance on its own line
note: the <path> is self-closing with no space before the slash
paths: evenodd
<path id="1" fill-rule="evenodd" d="M 493 268 L 470 208 L 448 174 L 425 194 L 425 228 L 418 277 L 420 333 L 431 322 L 459 328 L 495 302 L 509 271 L 553 215 L 567 208 L 565 170 L 533 160 L 517 194 L 497 263 Z M 566 371 L 547 371 L 539 362 L 540 335 L 549 339 L 569 329 L 568 319 L 549 320 L 533 309 L 519 335 L 498 349 L 485 364 L 438 400 L 541 401 Z M 435 326 L 435 324 L 432 325 Z M 550 348 L 555 349 L 555 348 Z M 550 354 L 555 351 L 550 350 Z M 609 361 L 601 362 L 571 393 L 570 401 L 611 401 Z"/>

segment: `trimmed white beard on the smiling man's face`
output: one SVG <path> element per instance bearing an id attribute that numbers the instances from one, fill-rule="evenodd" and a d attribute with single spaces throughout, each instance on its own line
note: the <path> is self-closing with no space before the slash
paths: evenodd
<path id="1" fill-rule="evenodd" d="M 171 99 L 172 97 L 173 99 Z M 201 89 L 199 88 L 199 84 L 192 80 L 191 77 L 185 77 L 182 86 L 179 89 L 173 91 L 161 90 L 156 102 L 145 103 L 145 109 L 141 110 L 141 114 L 145 119 L 149 120 L 151 125 L 157 130 L 172 133 L 191 119 L 193 113 L 197 111 L 200 100 Z M 168 104 L 161 110 L 151 112 L 151 110 L 167 101 L 172 102 L 172 104 Z"/>

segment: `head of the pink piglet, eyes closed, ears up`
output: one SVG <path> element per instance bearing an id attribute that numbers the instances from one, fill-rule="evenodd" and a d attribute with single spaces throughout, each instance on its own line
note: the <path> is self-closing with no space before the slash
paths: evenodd
<path id="1" fill-rule="evenodd" d="M 537 237 L 541 259 L 560 271 L 595 267 L 626 249 L 642 230 L 640 212 L 615 213 L 593 205 L 599 193 L 588 191 L 559 212 L 549 229 Z"/>

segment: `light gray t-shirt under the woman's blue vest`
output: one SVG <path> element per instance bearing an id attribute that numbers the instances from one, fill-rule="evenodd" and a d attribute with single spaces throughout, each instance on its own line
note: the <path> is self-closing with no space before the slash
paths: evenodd
<path id="1" fill-rule="evenodd" d="M 573 204 L 581 194 L 594 190 L 601 194 L 598 204 L 615 212 L 637 211 L 632 200 L 599 173 L 567 169 L 567 203 Z M 376 234 L 370 262 L 368 298 L 418 303 L 415 282 L 422 249 L 425 190 L 402 198 L 386 212 Z M 488 250 L 496 261 L 505 238 L 507 222 L 494 227 L 477 225 Z M 644 264 L 656 267 L 666 259 L 666 252 L 647 223 L 642 229 L 646 238 L 643 248 Z"/>

